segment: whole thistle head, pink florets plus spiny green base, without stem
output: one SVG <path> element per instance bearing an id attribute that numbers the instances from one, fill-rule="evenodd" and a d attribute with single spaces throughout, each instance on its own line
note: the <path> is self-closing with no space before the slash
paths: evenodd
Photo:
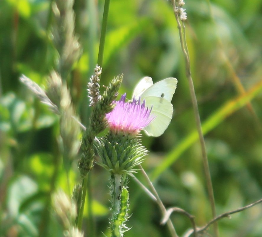
<path id="1" fill-rule="evenodd" d="M 155 118 L 151 114 L 152 108 L 145 106 L 145 101 L 125 100 L 126 94 L 106 114 L 110 131 L 105 137 L 97 139 L 95 144 L 102 159 L 102 162 L 97 163 L 117 174 L 135 172 L 135 166 L 143 162 L 147 149 L 142 146 L 137 135 Z"/>

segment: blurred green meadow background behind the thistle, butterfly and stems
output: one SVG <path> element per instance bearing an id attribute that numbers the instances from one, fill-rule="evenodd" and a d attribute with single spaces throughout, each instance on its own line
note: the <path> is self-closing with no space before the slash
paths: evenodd
<path id="1" fill-rule="evenodd" d="M 89 116 L 87 82 L 97 61 L 104 1 L 76 0 L 75 31 L 82 56 L 67 81 L 82 123 Z M 51 1 L 0 1 L 0 236 L 63 236 L 49 206 L 53 188 L 69 193 L 58 156 L 59 118 L 19 82 L 27 77 L 42 85 L 54 66 L 50 40 Z M 186 0 L 186 36 L 192 76 L 205 133 L 217 213 L 262 197 L 262 2 L 259 0 Z M 143 166 L 166 207 L 177 206 L 211 219 L 201 150 L 196 133 L 184 58 L 170 2 L 111 0 L 101 85 L 124 74 L 120 93 L 140 78 L 154 82 L 178 78 L 174 116 L 159 138 L 143 134 L 149 149 Z M 103 88 L 102 88 L 103 90 Z M 136 176 L 145 180 L 138 172 Z M 77 160 L 71 186 L 80 181 Z M 106 233 L 109 175 L 91 172 L 95 236 Z M 71 187 L 70 187 L 71 188 Z M 133 181 L 125 236 L 169 236 L 157 205 Z M 171 219 L 179 235 L 191 228 L 180 214 Z M 87 211 L 85 236 L 89 236 Z M 262 236 L 261 204 L 219 221 L 220 236 Z M 211 232 L 212 233 L 212 232 Z"/>

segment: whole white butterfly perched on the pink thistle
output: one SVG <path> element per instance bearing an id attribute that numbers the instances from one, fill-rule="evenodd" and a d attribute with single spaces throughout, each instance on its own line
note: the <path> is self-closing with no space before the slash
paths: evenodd
<path id="1" fill-rule="evenodd" d="M 175 93 L 178 80 L 176 78 L 166 78 L 155 84 L 151 77 L 142 78 L 134 89 L 132 98 L 141 101 L 145 99 L 146 106 L 151 108 L 156 118 L 144 128 L 148 136 L 158 137 L 167 129 L 173 117 L 173 105 L 171 100 Z"/>

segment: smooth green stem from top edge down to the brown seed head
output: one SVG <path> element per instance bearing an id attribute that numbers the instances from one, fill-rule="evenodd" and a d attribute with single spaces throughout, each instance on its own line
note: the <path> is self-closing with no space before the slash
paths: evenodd
<path id="1" fill-rule="evenodd" d="M 99 51 L 98 51 L 98 59 L 97 59 L 97 63 L 101 67 L 102 67 L 102 63 L 103 63 L 103 55 L 104 55 L 104 47 L 105 47 L 105 34 L 106 34 L 106 27 L 107 27 L 109 4 L 110 4 L 110 0 L 105 0 L 103 20 L 102 20 L 102 29 L 101 29 L 101 36 L 100 36 L 100 43 L 99 43 Z"/>

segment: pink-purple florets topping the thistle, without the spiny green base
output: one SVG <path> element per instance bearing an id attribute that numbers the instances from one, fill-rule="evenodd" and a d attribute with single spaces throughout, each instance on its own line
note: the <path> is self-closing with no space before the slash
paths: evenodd
<path id="1" fill-rule="evenodd" d="M 140 98 L 138 100 L 134 98 L 131 103 L 125 100 L 126 93 L 115 102 L 115 108 L 106 114 L 109 128 L 115 132 L 122 131 L 137 135 L 141 129 L 154 120 L 155 116 L 151 114 L 152 107 L 151 109 L 146 108 L 145 100 L 141 104 Z"/>

